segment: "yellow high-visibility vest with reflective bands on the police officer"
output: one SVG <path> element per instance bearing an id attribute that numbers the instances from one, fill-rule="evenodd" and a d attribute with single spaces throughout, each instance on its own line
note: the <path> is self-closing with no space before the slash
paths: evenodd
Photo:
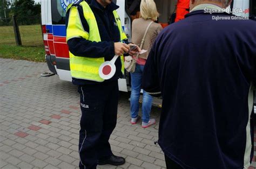
<path id="1" fill-rule="evenodd" d="M 81 1 L 79 3 L 83 8 L 84 17 L 90 27 L 90 33 L 84 31 L 83 25 L 79 18 L 79 13 L 77 7 L 73 4 L 70 4 L 67 8 L 67 11 L 70 10 L 69 13 L 69 23 L 66 30 L 66 41 L 71 38 L 84 38 L 90 41 L 101 41 L 98 25 L 96 22 L 95 15 L 93 14 L 89 4 L 85 1 Z M 123 29 L 120 17 L 116 10 L 113 11 L 114 18 L 118 25 L 118 29 L 120 32 L 120 40 L 127 39 Z M 104 56 L 101 58 L 87 58 L 87 57 L 77 57 L 69 52 L 70 57 L 70 72 L 73 78 L 91 80 L 97 82 L 103 82 L 104 79 L 99 76 L 99 67 L 105 61 Z M 124 56 L 120 57 L 122 62 L 122 73 L 124 74 Z"/>

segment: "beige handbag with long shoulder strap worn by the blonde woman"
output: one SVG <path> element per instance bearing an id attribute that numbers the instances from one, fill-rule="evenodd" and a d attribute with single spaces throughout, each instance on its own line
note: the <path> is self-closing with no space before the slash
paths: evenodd
<path id="1" fill-rule="evenodd" d="M 150 27 L 150 25 L 152 23 L 153 22 L 151 21 L 149 26 L 147 26 L 147 29 L 146 29 L 146 31 L 144 33 L 144 36 L 143 36 L 143 39 L 142 39 L 142 43 L 140 43 L 140 48 L 141 49 L 143 47 L 147 31 L 149 30 L 149 27 Z M 137 59 L 138 59 L 138 57 L 139 57 L 139 53 L 137 53 L 137 55 L 136 55 Z M 135 71 L 135 67 L 136 67 L 136 60 L 135 59 L 133 59 L 131 56 L 124 57 L 124 68 L 126 69 L 127 72 L 133 73 Z"/>

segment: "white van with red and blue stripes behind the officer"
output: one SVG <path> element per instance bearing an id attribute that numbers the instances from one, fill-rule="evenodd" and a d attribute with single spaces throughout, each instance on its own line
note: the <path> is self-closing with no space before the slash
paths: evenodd
<path id="1" fill-rule="evenodd" d="M 68 4 L 75 0 L 42 0 L 42 31 L 45 46 L 45 59 L 52 74 L 59 79 L 71 81 L 69 66 L 69 50 L 66 44 L 65 10 Z M 131 37 L 131 17 L 127 13 L 126 0 L 113 0 L 120 6 L 117 10 L 122 20 L 122 26 L 127 37 Z M 159 23 L 168 23 L 169 17 L 176 8 L 177 0 L 156 0 L 160 13 Z M 238 16 L 248 17 L 256 15 L 255 0 L 233 0 L 231 9 L 242 9 L 242 13 L 234 13 Z M 52 75 L 51 74 L 51 75 Z M 44 75 L 43 75 L 44 76 Z M 123 79 L 119 79 L 119 90 L 130 90 L 129 73 L 125 73 Z"/>

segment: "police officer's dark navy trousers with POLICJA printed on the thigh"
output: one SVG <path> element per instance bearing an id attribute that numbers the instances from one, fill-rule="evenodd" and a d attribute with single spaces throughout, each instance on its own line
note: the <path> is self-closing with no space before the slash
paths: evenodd
<path id="1" fill-rule="evenodd" d="M 118 81 L 83 85 L 80 94 L 79 168 L 96 168 L 97 160 L 112 156 L 109 138 L 116 127 Z"/>

